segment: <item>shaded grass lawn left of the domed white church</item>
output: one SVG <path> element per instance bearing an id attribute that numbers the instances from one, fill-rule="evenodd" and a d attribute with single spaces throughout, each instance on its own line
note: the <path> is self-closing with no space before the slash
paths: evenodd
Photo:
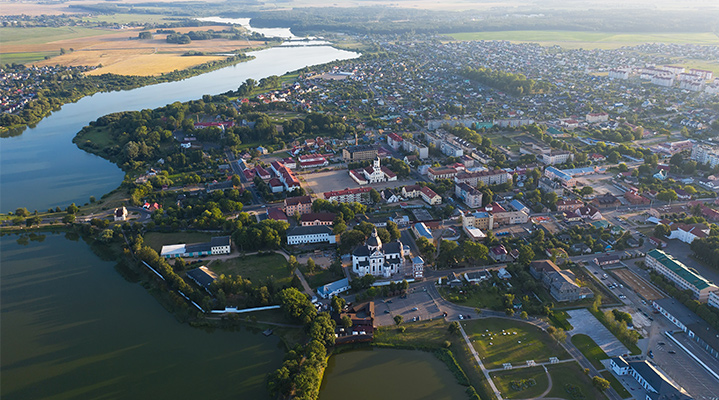
<path id="1" fill-rule="evenodd" d="M 287 260 L 277 253 L 214 260 L 208 267 L 217 275 L 241 276 L 255 285 L 264 284 L 270 276 L 280 285 L 292 281 L 292 271 L 288 268 Z"/>

